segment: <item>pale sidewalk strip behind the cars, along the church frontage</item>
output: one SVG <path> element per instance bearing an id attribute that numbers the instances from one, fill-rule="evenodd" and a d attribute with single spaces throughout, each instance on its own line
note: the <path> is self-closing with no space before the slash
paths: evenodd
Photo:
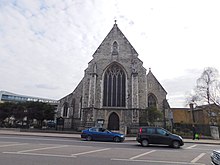
<path id="1" fill-rule="evenodd" d="M 63 137 L 63 138 L 74 138 L 80 139 L 79 133 L 49 133 L 49 132 L 21 132 L 19 129 L 12 129 L 12 130 L 4 130 L 0 129 L 0 136 L 1 135 L 21 135 L 21 136 L 42 136 L 42 137 Z M 126 137 L 125 141 L 136 141 L 136 137 Z M 192 140 L 192 139 L 183 139 L 184 143 L 197 143 L 197 144 L 216 144 L 220 145 L 220 140 L 215 139 L 199 139 L 199 140 Z"/>

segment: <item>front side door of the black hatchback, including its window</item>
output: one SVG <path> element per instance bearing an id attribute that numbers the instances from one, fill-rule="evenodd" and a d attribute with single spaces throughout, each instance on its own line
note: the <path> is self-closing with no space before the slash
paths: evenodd
<path id="1" fill-rule="evenodd" d="M 170 136 L 169 133 L 163 129 L 163 128 L 157 128 L 156 129 L 156 139 L 157 139 L 157 144 L 165 144 L 169 145 L 170 144 Z"/>

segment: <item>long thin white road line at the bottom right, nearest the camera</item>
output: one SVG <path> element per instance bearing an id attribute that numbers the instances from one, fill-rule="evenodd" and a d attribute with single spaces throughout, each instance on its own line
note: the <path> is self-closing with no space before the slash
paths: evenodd
<path id="1" fill-rule="evenodd" d="M 188 165 L 205 165 L 203 163 L 192 162 L 172 162 L 172 161 L 160 161 L 160 160 L 131 160 L 131 159 L 111 159 L 112 161 L 126 161 L 126 162 L 144 162 L 144 163 L 159 163 L 159 164 L 188 164 Z"/>

